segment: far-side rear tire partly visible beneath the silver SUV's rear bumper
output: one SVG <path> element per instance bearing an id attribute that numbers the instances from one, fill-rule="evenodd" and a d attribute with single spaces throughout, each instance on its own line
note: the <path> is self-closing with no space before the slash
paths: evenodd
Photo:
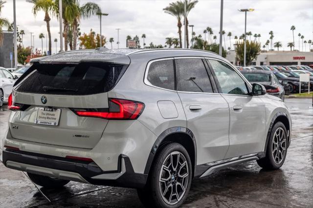
<path id="1" fill-rule="evenodd" d="M 62 188 L 69 182 L 67 180 L 51 178 L 33 173 L 27 173 L 27 175 L 35 184 L 45 188 Z"/>

